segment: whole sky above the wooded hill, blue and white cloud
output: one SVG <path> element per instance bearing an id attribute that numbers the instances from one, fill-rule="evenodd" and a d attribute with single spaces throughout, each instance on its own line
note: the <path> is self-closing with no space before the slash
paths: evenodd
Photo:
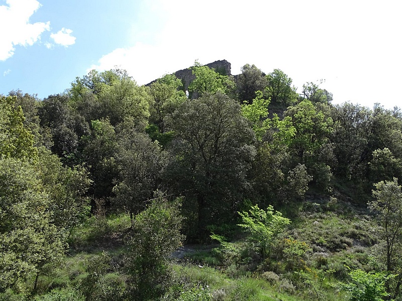
<path id="1" fill-rule="evenodd" d="M 226 59 L 280 69 L 333 103 L 402 107 L 397 0 L 0 0 L 0 94 L 45 98 L 91 69 L 138 84 Z"/>

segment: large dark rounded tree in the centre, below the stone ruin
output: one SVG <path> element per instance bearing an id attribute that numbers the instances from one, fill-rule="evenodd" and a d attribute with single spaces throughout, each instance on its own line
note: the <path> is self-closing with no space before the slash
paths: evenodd
<path id="1" fill-rule="evenodd" d="M 230 220 L 248 187 L 254 133 L 240 105 L 221 92 L 185 101 L 166 118 L 174 130 L 165 179 L 194 212 L 197 229 Z M 194 204 L 195 201 L 195 204 Z"/>

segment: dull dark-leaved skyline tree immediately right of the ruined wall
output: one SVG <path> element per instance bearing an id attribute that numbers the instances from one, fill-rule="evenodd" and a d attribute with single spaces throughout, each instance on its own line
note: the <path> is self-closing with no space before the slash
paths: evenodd
<path id="1" fill-rule="evenodd" d="M 241 71 L 242 73 L 236 79 L 239 99 L 252 103 L 253 99 L 257 97 L 256 91 L 264 91 L 268 81 L 265 73 L 255 65 L 246 64 Z"/>

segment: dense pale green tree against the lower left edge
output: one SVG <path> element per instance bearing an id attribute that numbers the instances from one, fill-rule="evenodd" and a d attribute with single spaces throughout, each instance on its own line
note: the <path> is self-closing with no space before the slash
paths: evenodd
<path id="1" fill-rule="evenodd" d="M 14 158 L 0 159 L 0 292 L 24 282 L 57 263 L 65 250 L 63 237 L 52 224 L 51 200 L 37 171 Z"/>

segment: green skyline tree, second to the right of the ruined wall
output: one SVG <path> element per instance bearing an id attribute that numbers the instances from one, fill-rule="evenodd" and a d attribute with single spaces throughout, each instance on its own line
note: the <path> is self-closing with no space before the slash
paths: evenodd
<path id="1" fill-rule="evenodd" d="M 265 78 L 268 82 L 266 92 L 272 102 L 284 105 L 291 105 L 296 102 L 298 96 L 296 88 L 291 86 L 292 79 L 283 73 L 283 71 L 274 69 Z"/>

